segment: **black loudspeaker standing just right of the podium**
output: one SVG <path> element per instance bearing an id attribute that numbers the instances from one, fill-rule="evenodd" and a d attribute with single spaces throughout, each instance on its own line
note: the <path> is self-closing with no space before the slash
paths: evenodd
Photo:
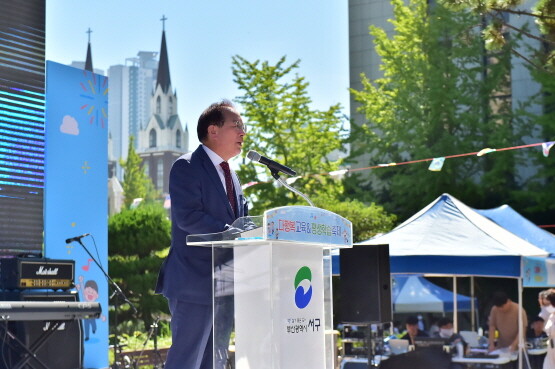
<path id="1" fill-rule="evenodd" d="M 350 324 L 390 322 L 389 245 L 359 245 L 340 252 L 339 320 Z"/>

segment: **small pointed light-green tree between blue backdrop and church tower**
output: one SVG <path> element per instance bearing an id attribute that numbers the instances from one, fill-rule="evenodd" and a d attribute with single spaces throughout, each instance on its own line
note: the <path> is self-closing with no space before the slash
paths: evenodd
<path id="1" fill-rule="evenodd" d="M 135 152 L 134 137 L 129 137 L 129 148 L 127 150 L 127 160 L 121 161 L 123 167 L 123 203 L 126 208 L 136 198 L 146 199 L 146 202 L 154 201 L 158 198 L 158 193 L 150 178 L 146 175 L 142 166 L 141 157 Z"/>

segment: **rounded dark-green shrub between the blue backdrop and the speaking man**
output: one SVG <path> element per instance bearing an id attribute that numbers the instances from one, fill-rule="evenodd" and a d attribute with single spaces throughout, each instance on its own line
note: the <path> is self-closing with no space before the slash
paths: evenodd
<path id="1" fill-rule="evenodd" d="M 123 210 L 108 220 L 110 276 L 138 309 L 135 315 L 119 300 L 119 322 L 140 319 L 149 327 L 153 316 L 167 313 L 166 300 L 154 294 L 154 286 L 163 261 L 161 251 L 170 245 L 170 228 L 167 213 L 159 205 Z"/>

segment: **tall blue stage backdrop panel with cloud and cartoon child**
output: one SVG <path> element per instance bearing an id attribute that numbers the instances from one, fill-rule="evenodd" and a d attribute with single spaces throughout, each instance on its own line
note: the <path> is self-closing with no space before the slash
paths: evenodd
<path id="1" fill-rule="evenodd" d="M 98 301 L 99 319 L 83 321 L 85 368 L 108 367 L 108 78 L 46 64 L 45 255 L 75 260 L 81 301 Z"/>

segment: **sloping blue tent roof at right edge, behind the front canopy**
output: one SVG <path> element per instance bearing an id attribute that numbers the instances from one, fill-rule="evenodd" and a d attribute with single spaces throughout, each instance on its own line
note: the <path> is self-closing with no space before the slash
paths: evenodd
<path id="1" fill-rule="evenodd" d="M 555 255 L 555 235 L 541 229 L 509 205 L 502 205 L 493 209 L 474 210 L 532 245 L 549 252 L 551 256 Z"/>

